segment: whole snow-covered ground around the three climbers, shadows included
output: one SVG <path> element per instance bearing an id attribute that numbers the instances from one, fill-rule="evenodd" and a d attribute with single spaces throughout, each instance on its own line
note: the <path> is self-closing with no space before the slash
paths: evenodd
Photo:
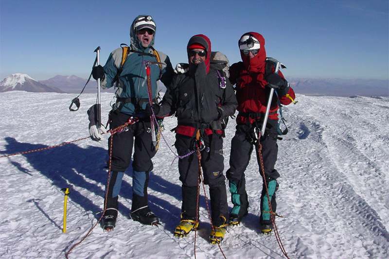
<path id="1" fill-rule="evenodd" d="M 74 94 L 0 94 L 1 154 L 10 155 L 88 137 L 87 109 L 95 94 L 81 95 L 81 108 L 70 112 Z M 112 93 L 102 93 L 107 120 Z M 276 168 L 277 227 L 289 258 L 389 258 L 389 98 L 308 97 L 283 108 L 289 133 L 279 141 Z M 176 118 L 166 118 L 163 136 L 169 146 Z M 225 138 L 229 168 L 230 120 Z M 59 147 L 0 158 L 0 258 L 65 258 L 69 249 L 97 222 L 103 208 L 108 159 L 107 137 L 84 139 Z M 201 188 L 200 229 L 173 237 L 181 206 L 177 159 L 160 142 L 151 174 L 149 201 L 161 225 L 145 226 L 129 218 L 132 171 L 124 175 L 118 226 L 100 226 L 76 246 L 69 258 L 224 258 L 209 242 L 210 223 Z M 175 149 L 173 149 L 175 152 Z M 174 160 L 173 165 L 172 162 Z M 285 258 L 275 236 L 259 234 L 262 179 L 255 155 L 247 175 L 249 214 L 240 227 L 228 229 L 221 248 L 228 259 Z M 64 192 L 68 202 L 67 233 L 62 233 Z M 207 197 L 208 194 L 208 187 Z M 230 199 L 230 196 L 229 196 Z M 231 203 L 229 201 L 230 207 Z"/>

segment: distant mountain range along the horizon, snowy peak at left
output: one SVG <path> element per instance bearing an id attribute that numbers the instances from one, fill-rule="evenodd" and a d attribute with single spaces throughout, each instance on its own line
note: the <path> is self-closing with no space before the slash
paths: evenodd
<path id="1" fill-rule="evenodd" d="M 296 93 L 304 95 L 330 95 L 349 97 L 389 96 L 389 80 L 376 79 L 339 79 L 339 78 L 286 78 Z M 0 81 L 0 92 L 57 92 L 80 93 L 87 79 L 75 75 L 56 75 L 48 80 L 36 81 L 26 74 L 12 74 Z M 163 92 L 166 88 L 160 85 Z M 96 93 L 97 83 L 91 79 L 84 93 Z M 112 90 L 111 90 L 112 91 Z"/>

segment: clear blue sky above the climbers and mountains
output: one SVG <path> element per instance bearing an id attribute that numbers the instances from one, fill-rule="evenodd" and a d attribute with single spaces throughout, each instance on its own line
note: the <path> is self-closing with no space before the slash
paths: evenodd
<path id="1" fill-rule="evenodd" d="M 187 61 L 195 34 L 238 62 L 238 39 L 254 31 L 264 35 L 267 56 L 286 65 L 285 77 L 389 77 L 388 0 L 1 0 L 0 80 L 88 78 L 93 51 L 101 47 L 105 64 L 143 14 L 155 19 L 155 47 L 173 66 Z"/>

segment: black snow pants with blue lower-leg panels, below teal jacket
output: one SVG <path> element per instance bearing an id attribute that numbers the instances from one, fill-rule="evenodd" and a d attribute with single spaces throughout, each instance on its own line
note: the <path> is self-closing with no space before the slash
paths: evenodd
<path id="1" fill-rule="evenodd" d="M 110 114 L 110 129 L 123 125 L 130 119 L 130 115 L 119 113 Z M 147 187 L 149 182 L 149 172 L 153 170 L 151 158 L 157 153 L 150 134 L 150 119 L 140 120 L 129 125 L 124 131 L 115 133 L 108 139 L 108 154 L 110 141 L 112 138 L 112 159 L 106 208 L 118 208 L 118 195 L 122 185 L 124 171 L 131 162 L 132 151 L 134 156 L 132 161 L 132 207 L 134 211 L 147 206 Z M 109 161 L 108 161 L 109 163 Z"/>

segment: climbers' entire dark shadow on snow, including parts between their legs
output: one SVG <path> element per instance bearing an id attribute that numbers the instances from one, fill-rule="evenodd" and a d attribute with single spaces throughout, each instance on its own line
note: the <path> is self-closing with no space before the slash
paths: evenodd
<path id="1" fill-rule="evenodd" d="M 7 142 L 5 151 L 0 151 L 0 154 L 12 155 L 39 150 L 21 155 L 27 159 L 28 164 L 36 172 L 51 180 L 52 185 L 58 190 L 71 188 L 70 201 L 77 204 L 87 213 L 93 214 L 96 220 L 100 219 L 101 213 L 96 212 L 102 211 L 104 208 L 105 186 L 108 175 L 106 170 L 106 161 L 108 160 L 106 149 L 94 146 L 81 148 L 73 143 L 46 149 L 49 146 L 21 143 L 11 137 L 4 139 Z M 19 172 L 25 173 L 26 176 L 33 177 L 35 174 L 34 170 L 29 170 L 18 162 L 11 161 L 10 163 Z M 125 174 L 130 177 L 125 178 L 122 182 L 119 196 L 119 212 L 127 219 L 130 219 L 132 201 L 131 166 L 126 170 Z M 180 185 L 171 183 L 153 172 L 150 173 L 149 189 L 169 194 L 179 201 L 182 200 Z M 87 196 L 90 193 L 100 196 L 101 202 L 95 204 L 88 199 Z M 159 216 L 161 222 L 165 224 L 166 229 L 173 231 L 179 222 L 181 208 L 171 204 L 169 200 L 161 199 L 158 196 L 149 194 L 149 205 L 153 212 Z M 205 198 L 202 195 L 200 196 L 199 206 L 206 208 Z M 49 217 L 47 211 L 42 211 L 41 209 L 40 211 L 46 217 Z M 50 217 L 48 219 L 53 222 Z"/>

